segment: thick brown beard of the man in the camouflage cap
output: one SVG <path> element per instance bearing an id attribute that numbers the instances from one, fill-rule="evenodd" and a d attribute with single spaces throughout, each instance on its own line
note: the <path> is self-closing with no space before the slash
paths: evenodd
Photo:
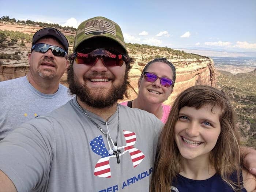
<path id="1" fill-rule="evenodd" d="M 112 86 L 109 91 L 103 88 L 92 90 L 86 84 L 79 83 L 74 77 L 74 72 L 72 72 L 72 75 L 70 73 L 68 75 L 71 93 L 76 94 L 83 103 L 99 109 L 108 108 L 114 105 L 118 99 L 123 99 L 128 85 L 127 80 L 123 79 L 120 84 Z"/>

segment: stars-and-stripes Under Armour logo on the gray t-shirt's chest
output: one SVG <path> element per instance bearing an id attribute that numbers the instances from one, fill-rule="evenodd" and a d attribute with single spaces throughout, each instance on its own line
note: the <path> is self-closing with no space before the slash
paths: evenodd
<path id="1" fill-rule="evenodd" d="M 124 132 L 124 138 L 126 141 L 126 146 L 118 147 L 118 150 L 121 148 L 124 148 L 123 153 L 121 153 L 119 156 L 125 154 L 128 151 L 129 154 L 131 155 L 133 167 L 136 167 L 143 161 L 145 156 L 142 153 L 142 151 L 134 147 L 134 144 L 136 142 L 135 132 L 131 132 L 131 131 L 123 131 L 123 132 Z M 116 155 L 109 155 L 101 135 L 91 140 L 90 146 L 94 153 L 101 156 L 101 158 L 95 165 L 94 175 L 98 177 L 110 178 L 111 171 L 110 171 L 109 159 L 110 157 L 116 157 Z"/>

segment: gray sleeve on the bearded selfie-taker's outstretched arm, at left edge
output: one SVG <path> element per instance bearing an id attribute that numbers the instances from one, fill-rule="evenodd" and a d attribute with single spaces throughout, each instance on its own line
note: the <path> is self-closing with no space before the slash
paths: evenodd
<path id="1" fill-rule="evenodd" d="M 31 120 L 1 140 L 0 169 L 18 192 L 41 191 L 49 178 L 54 146 L 51 120 L 44 117 Z"/>

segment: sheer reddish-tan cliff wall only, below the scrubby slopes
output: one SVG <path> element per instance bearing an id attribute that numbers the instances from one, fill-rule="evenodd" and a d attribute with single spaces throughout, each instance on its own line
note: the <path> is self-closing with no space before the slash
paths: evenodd
<path id="1" fill-rule="evenodd" d="M 132 54 L 131 54 L 132 56 Z M 216 87 L 217 71 L 214 68 L 214 62 L 210 58 L 205 59 L 173 59 L 170 60 L 176 67 L 176 82 L 173 93 L 165 101 L 166 105 L 171 105 L 176 96 L 183 90 L 196 84 L 205 84 Z M 130 89 L 130 97 L 125 100 L 136 98 L 138 93 L 138 80 L 146 62 L 136 60 L 129 72 L 129 79 L 133 89 Z M 26 66 L 0 65 L 0 81 L 15 79 L 27 75 L 29 72 L 29 64 Z M 65 72 L 61 78 L 61 83 L 67 86 L 67 73 Z M 135 91 L 134 91 L 135 90 Z"/>

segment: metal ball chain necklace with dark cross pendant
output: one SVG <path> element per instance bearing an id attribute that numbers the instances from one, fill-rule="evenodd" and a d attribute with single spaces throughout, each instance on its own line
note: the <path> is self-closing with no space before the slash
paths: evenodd
<path id="1" fill-rule="evenodd" d="M 85 116 L 86 116 L 87 118 L 89 118 L 89 120 L 99 129 L 99 131 L 101 131 L 101 132 L 103 133 L 103 135 L 105 135 L 105 137 L 108 138 L 108 139 L 111 141 L 109 133 L 108 133 L 108 137 L 107 137 L 107 133 L 106 133 L 105 131 L 103 131 L 103 129 L 101 128 L 101 126 L 99 126 L 99 124 L 97 124 L 97 123 L 93 120 L 93 118 L 91 118 L 91 117 L 89 116 L 89 114 L 86 113 L 86 111 L 82 108 L 82 106 L 79 105 L 79 103 L 78 103 L 78 101 L 77 101 L 77 97 L 76 97 L 76 104 L 79 106 L 80 110 L 85 114 Z M 117 132 L 116 132 L 116 142 L 114 142 L 114 145 L 115 145 L 115 146 L 117 146 L 118 133 L 119 133 L 119 107 L 118 107 L 118 105 L 117 105 Z M 120 163 L 119 153 L 121 153 L 120 150 L 114 151 L 114 153 L 113 153 L 114 155 L 116 155 L 116 161 L 117 161 L 117 163 Z"/>

